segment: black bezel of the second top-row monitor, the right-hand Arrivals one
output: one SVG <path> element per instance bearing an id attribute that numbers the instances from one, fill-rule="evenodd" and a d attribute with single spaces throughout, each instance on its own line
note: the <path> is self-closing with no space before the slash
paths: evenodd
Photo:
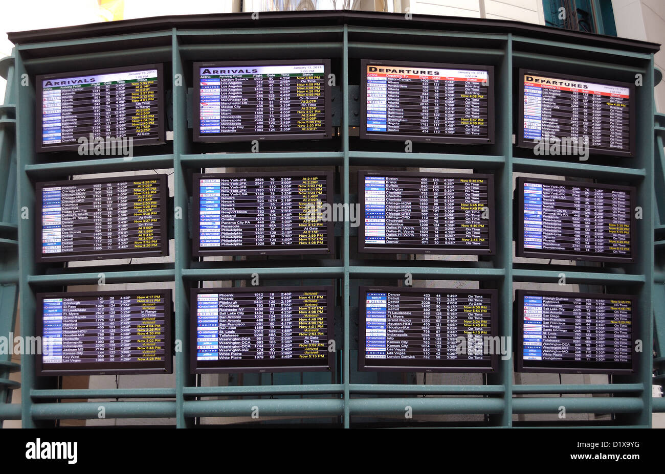
<path id="1" fill-rule="evenodd" d="M 324 74 L 324 94 L 325 94 L 325 132 L 324 133 L 311 133 L 311 132 L 298 132 L 298 133 L 270 133 L 270 134 L 229 134 L 229 135 L 215 135 L 203 134 L 201 135 L 201 67 L 224 67 L 224 66 L 274 66 L 274 65 L 288 65 L 288 64 L 323 64 Z M 273 140 L 329 140 L 332 138 L 332 87 L 328 80 L 331 74 L 331 60 L 330 59 L 275 59 L 275 60 L 238 60 L 238 61 L 199 61 L 194 62 L 194 102 L 192 106 L 193 116 L 193 130 L 192 140 L 194 142 L 202 143 L 223 143 L 223 142 L 251 142 L 258 140 L 259 142 L 271 142 Z"/>

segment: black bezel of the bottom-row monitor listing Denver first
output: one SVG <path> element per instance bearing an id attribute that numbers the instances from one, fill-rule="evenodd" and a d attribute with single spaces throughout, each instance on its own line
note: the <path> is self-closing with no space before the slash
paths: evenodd
<path id="1" fill-rule="evenodd" d="M 499 318 L 498 318 L 498 304 L 499 292 L 493 289 L 454 289 L 454 288 L 413 288 L 413 287 L 358 287 L 358 371 L 360 372 L 464 372 L 464 373 L 487 373 L 495 372 L 499 366 L 499 354 L 491 354 L 489 366 L 469 366 L 464 364 L 452 364 L 451 361 L 447 362 L 444 366 L 432 367 L 424 365 L 372 365 L 372 359 L 366 359 L 366 314 L 367 314 L 367 292 L 394 292 L 394 293 L 446 293 L 446 294 L 460 294 L 460 293 L 477 293 L 481 295 L 489 295 L 491 300 L 491 310 L 489 312 L 489 320 L 491 324 L 490 334 L 492 338 L 499 335 Z M 484 346 L 484 345 L 483 345 Z M 374 359 L 376 360 L 376 359 Z M 483 362 L 483 361 L 481 361 Z"/>

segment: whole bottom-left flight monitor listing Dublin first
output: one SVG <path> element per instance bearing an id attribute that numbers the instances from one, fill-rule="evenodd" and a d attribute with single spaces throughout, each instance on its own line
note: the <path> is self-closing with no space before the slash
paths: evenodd
<path id="1" fill-rule="evenodd" d="M 40 375 L 170 374 L 168 289 L 38 293 Z"/>

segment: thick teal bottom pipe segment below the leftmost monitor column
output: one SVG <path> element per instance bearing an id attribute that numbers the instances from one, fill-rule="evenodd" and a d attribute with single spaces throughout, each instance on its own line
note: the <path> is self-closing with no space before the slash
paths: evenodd
<path id="1" fill-rule="evenodd" d="M 33 419 L 173 418 L 176 402 L 78 402 L 33 404 Z"/>

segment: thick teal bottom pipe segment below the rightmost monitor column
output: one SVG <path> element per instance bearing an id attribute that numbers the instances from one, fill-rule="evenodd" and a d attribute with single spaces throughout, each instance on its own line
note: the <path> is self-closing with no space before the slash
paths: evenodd
<path id="1" fill-rule="evenodd" d="M 644 410 L 636 397 L 521 397 L 513 398 L 513 413 L 635 413 Z"/>

